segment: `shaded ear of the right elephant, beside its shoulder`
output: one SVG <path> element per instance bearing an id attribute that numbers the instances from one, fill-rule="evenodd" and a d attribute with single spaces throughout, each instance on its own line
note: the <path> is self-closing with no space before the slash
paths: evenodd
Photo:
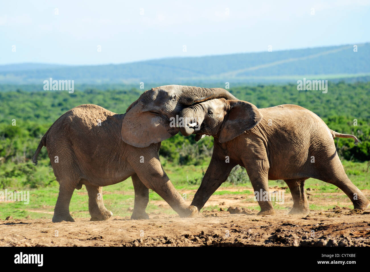
<path id="1" fill-rule="evenodd" d="M 238 100 L 228 100 L 230 110 L 223 122 L 219 142 L 230 141 L 257 125 L 263 118 L 262 113 L 252 103 Z"/>

